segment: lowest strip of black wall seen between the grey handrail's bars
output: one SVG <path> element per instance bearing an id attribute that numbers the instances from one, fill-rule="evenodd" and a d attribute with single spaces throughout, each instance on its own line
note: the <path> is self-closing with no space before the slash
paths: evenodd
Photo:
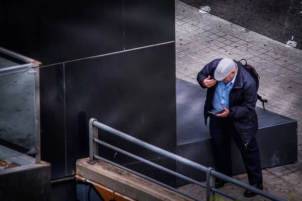
<path id="1" fill-rule="evenodd" d="M 150 160 L 150 162 L 156 163 L 160 166 L 166 167 L 176 172 L 176 161 L 170 158 L 163 157 L 163 158 Z M 148 177 L 151 177 L 157 181 L 163 182 L 172 187 L 177 187 L 176 176 L 164 172 L 153 166 L 147 165 L 142 162 L 138 162 L 138 163 L 127 164 L 125 165 L 125 167 L 134 170 L 136 172 L 139 172 L 143 175 L 146 175 Z"/>

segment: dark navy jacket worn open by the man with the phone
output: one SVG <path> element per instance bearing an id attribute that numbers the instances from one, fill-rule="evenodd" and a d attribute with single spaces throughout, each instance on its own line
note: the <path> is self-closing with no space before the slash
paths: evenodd
<path id="1" fill-rule="evenodd" d="M 214 72 L 221 59 L 215 59 L 206 64 L 197 75 L 197 81 L 202 88 L 202 81 L 209 75 L 214 79 Z M 237 62 L 236 62 L 237 63 Z M 229 94 L 229 115 L 224 118 L 232 118 L 234 125 L 241 135 L 243 143 L 247 146 L 258 131 L 258 118 L 255 111 L 257 103 L 257 89 L 254 78 L 248 71 L 238 64 L 238 73 Z M 217 83 L 207 89 L 204 105 L 205 125 L 209 116 L 208 111 L 213 108 L 212 99 Z"/>

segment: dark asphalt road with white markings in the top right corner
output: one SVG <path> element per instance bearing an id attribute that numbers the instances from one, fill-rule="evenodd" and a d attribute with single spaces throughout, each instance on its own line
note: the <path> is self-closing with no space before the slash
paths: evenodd
<path id="1" fill-rule="evenodd" d="M 210 14 L 263 34 L 282 43 L 297 42 L 302 49 L 300 1 L 181 0 L 194 7 L 211 7 Z M 248 31 L 248 30 L 247 30 Z"/>

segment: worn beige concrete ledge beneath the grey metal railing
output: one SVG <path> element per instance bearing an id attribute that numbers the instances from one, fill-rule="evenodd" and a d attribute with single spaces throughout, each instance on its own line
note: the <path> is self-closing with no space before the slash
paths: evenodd
<path id="1" fill-rule="evenodd" d="M 90 164 L 87 163 L 88 160 L 89 158 L 83 158 L 77 161 L 77 175 L 135 200 L 193 201 L 193 199 L 185 197 L 184 195 L 171 191 L 106 162 L 99 161 L 95 164 Z"/>

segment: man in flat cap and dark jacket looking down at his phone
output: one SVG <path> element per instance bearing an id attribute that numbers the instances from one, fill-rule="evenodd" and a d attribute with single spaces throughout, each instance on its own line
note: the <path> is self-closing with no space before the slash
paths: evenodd
<path id="1" fill-rule="evenodd" d="M 210 117 L 216 170 L 232 176 L 231 136 L 241 151 L 250 185 L 263 189 L 259 148 L 255 138 L 258 118 L 256 82 L 248 71 L 229 58 L 215 59 L 198 73 L 197 81 L 207 88 L 205 124 Z M 215 187 L 224 185 L 218 178 Z M 246 197 L 256 194 L 246 190 Z"/>

